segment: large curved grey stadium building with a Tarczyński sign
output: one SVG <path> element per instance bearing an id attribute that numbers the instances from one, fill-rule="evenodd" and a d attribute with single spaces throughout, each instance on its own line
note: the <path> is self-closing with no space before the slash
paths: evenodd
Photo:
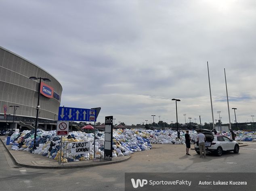
<path id="1" fill-rule="evenodd" d="M 31 76 L 50 79 L 41 80 L 38 128 L 56 128 L 62 92 L 59 81 L 36 64 L 0 47 L 0 129 L 34 129 L 40 83 L 39 79 L 29 79 Z"/>

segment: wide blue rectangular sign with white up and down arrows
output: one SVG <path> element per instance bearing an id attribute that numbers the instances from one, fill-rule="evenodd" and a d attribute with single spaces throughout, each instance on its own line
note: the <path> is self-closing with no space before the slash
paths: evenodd
<path id="1" fill-rule="evenodd" d="M 59 107 L 59 121 L 96 121 L 96 109 Z"/>

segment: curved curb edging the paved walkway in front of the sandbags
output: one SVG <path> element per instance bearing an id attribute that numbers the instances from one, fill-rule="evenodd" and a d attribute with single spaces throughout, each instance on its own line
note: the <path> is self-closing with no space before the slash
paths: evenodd
<path id="1" fill-rule="evenodd" d="M 17 165 L 17 166 L 23 166 L 23 167 L 27 167 L 27 168 L 44 168 L 44 169 L 63 169 L 63 168 L 86 168 L 86 167 L 93 167 L 93 166 L 102 166 L 102 165 L 107 165 L 107 164 L 115 164 L 115 163 L 120 163 L 120 162 L 124 162 L 127 161 L 131 158 L 131 156 L 129 156 L 128 158 L 125 158 L 123 160 L 118 160 L 118 161 L 111 161 L 111 162 L 105 162 L 105 163 L 98 163 L 98 164 L 85 164 L 85 165 L 80 165 L 80 166 L 63 166 L 60 164 L 60 166 L 34 166 L 34 165 L 29 165 L 29 164 L 23 164 L 23 163 L 19 163 L 15 160 L 15 158 L 13 157 L 13 155 L 10 153 L 10 151 L 8 150 L 8 148 L 6 147 L 6 145 L 4 144 L 4 142 L 2 141 L 2 139 L 0 139 L 2 144 L 4 145 L 5 149 L 8 151 L 8 154 L 10 155 L 10 157 L 12 158 L 13 162 Z M 65 163 L 66 164 L 66 163 Z"/>

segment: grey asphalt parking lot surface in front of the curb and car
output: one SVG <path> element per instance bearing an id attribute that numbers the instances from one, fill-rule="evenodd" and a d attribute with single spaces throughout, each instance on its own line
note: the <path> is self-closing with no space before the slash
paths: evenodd
<path id="1" fill-rule="evenodd" d="M 194 150 L 190 150 L 191 156 L 185 155 L 185 145 L 153 144 L 152 150 L 134 153 L 122 163 L 60 170 L 20 168 L 10 160 L 3 145 L 0 151 L 3 190 L 124 190 L 124 173 L 254 173 L 256 170 L 254 143 L 241 147 L 239 154 L 230 152 L 220 157 L 208 154 L 205 159 L 199 158 Z"/>

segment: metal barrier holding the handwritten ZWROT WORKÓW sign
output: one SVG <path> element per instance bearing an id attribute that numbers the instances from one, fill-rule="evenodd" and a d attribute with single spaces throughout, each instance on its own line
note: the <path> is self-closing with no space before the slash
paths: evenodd
<path id="1" fill-rule="evenodd" d="M 89 149 L 79 148 L 76 150 L 76 146 L 81 146 L 82 143 L 89 143 Z M 104 158 L 104 140 L 95 140 L 95 156 L 94 156 L 94 141 L 88 142 L 63 142 L 62 143 L 62 156 L 65 162 L 76 162 L 84 160 L 94 160 Z M 94 158 L 95 157 L 95 158 Z M 59 158 L 59 161 L 61 159 Z M 61 162 L 59 162 L 60 164 Z"/>

